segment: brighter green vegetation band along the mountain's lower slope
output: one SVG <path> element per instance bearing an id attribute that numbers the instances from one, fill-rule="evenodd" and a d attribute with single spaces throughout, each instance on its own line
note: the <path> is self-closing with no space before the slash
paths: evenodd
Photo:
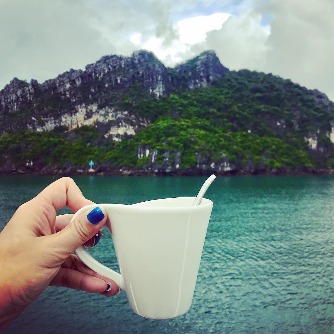
<path id="1" fill-rule="evenodd" d="M 246 132 L 225 132 L 198 118 L 159 118 L 133 140 L 110 141 L 108 145 L 99 147 L 91 144 L 100 136 L 96 128 L 82 127 L 73 133 L 79 135 L 80 139 L 70 142 L 63 134 L 55 132 L 4 134 L 0 137 L 0 152 L 15 157 L 17 163 L 39 159 L 58 166 L 66 161 L 76 166 L 85 166 L 87 161 L 93 159 L 97 163 L 109 161 L 114 166 L 140 167 L 148 162 L 148 157 L 137 160 L 136 150 L 145 143 L 151 150 L 157 149 L 160 155 L 171 152 L 169 161 L 174 161 L 175 154 L 182 152 L 181 168 L 196 165 L 196 152 L 201 152 L 205 162 L 219 161 L 222 156 L 236 165 L 242 161 L 240 168 L 249 160 L 257 166 L 263 164 L 273 168 L 313 166 L 305 151 L 281 139 Z"/>

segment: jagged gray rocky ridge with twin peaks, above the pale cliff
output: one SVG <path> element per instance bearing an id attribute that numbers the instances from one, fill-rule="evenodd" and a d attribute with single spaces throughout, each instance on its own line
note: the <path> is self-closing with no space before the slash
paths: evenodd
<path id="1" fill-rule="evenodd" d="M 106 97 L 112 97 L 108 100 L 111 103 L 124 90 L 137 84 L 149 96 L 159 98 L 179 90 L 207 87 L 227 71 L 211 50 L 173 69 L 167 68 L 153 52 L 147 50 L 136 50 L 128 57 L 105 55 L 88 64 L 83 71 L 71 68 L 40 84 L 36 80 L 29 84 L 13 78 L 0 92 L 0 111 L 37 110 L 33 101 L 37 95 L 40 101 L 43 95 L 43 101 L 57 101 L 54 105 L 61 113 L 62 108 L 67 110 L 83 102 L 102 101 Z M 46 110 L 46 105 L 42 110 Z"/>

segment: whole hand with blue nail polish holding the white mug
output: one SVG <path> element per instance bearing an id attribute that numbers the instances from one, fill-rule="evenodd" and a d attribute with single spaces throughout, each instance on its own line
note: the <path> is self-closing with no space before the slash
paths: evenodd
<path id="1" fill-rule="evenodd" d="M 17 318 L 49 285 L 111 296 L 117 284 L 86 267 L 71 253 L 93 246 L 101 237 L 107 214 L 103 208 L 78 216 L 56 216 L 94 204 L 82 196 L 71 178 L 61 178 L 22 204 L 0 233 L 0 330 Z"/>

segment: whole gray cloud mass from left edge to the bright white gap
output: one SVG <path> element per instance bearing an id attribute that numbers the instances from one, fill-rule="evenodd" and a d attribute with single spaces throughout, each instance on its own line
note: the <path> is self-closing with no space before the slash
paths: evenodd
<path id="1" fill-rule="evenodd" d="M 0 89 L 14 76 L 44 81 L 106 54 L 128 55 L 142 40 L 178 38 L 169 1 L 0 0 Z"/>

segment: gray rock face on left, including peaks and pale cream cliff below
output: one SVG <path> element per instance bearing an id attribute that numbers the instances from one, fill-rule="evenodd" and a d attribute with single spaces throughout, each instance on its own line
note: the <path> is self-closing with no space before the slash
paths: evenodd
<path id="1" fill-rule="evenodd" d="M 84 71 L 70 69 L 41 84 L 14 78 L 0 91 L 0 133 L 17 128 L 52 131 L 95 125 L 105 137 L 122 140 L 149 123 L 115 103 L 126 90 L 140 85 L 139 93 L 159 98 L 174 90 L 210 85 L 226 71 L 213 51 L 171 69 L 152 52 L 140 50 L 131 57 L 104 56 Z M 18 111 L 23 111 L 24 117 L 16 117 Z"/>

